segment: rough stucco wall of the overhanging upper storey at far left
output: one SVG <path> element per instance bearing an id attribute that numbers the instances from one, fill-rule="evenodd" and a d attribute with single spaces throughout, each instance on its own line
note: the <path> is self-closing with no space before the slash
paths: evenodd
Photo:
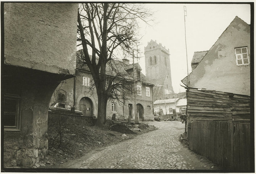
<path id="1" fill-rule="evenodd" d="M 74 3 L 5 3 L 5 64 L 75 74 Z"/>

